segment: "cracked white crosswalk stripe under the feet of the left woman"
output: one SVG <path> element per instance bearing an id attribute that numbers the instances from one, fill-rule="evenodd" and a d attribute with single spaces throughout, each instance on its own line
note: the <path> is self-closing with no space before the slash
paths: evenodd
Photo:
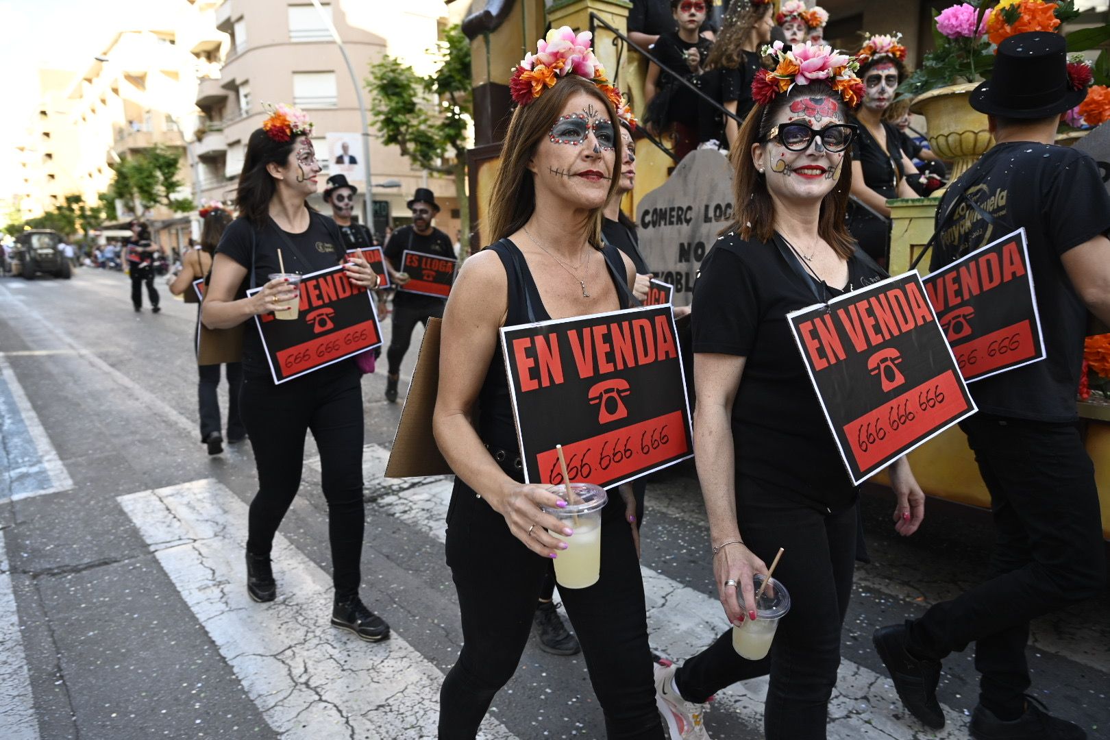
<path id="1" fill-rule="evenodd" d="M 274 539 L 279 598 L 244 586 L 246 505 L 215 480 L 121 496 L 151 551 L 266 722 L 287 740 L 432 738 L 443 673 L 394 632 L 381 643 L 329 625 L 331 578 Z M 487 740 L 515 740 L 487 718 Z"/>

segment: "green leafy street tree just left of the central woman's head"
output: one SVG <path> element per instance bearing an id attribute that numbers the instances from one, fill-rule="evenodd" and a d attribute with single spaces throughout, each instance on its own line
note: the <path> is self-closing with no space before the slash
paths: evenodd
<path id="1" fill-rule="evenodd" d="M 466 196 L 466 145 L 470 128 L 471 43 L 457 26 L 431 51 L 436 71 L 420 77 L 393 57 L 370 65 L 366 90 L 370 119 L 382 142 L 394 144 L 417 166 L 450 175 L 462 222 L 462 256 L 470 253 L 471 209 Z"/>

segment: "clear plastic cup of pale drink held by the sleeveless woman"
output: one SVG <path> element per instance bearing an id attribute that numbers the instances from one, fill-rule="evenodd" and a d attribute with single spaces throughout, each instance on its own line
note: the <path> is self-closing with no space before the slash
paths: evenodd
<path id="1" fill-rule="evenodd" d="M 572 483 L 568 499 L 566 486 L 551 486 L 553 494 L 567 503 L 566 508 L 544 507 L 574 530 L 569 537 L 549 533 L 568 547 L 555 558 L 555 580 L 563 588 L 586 588 L 602 576 L 602 508 L 609 500 L 605 489 L 589 483 Z"/>

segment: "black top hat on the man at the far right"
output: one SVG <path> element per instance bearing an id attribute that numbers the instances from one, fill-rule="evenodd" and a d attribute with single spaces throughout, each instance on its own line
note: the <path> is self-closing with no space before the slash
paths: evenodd
<path id="1" fill-rule="evenodd" d="M 1011 119 L 1043 119 L 1087 97 L 1068 82 L 1068 47 L 1048 31 L 1018 33 L 998 44 L 995 72 L 971 92 L 971 108 Z"/>

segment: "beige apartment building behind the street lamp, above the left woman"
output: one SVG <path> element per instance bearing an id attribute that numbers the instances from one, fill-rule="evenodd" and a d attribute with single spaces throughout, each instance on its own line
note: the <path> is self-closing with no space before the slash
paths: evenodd
<path id="1" fill-rule="evenodd" d="M 353 134 L 362 131 L 354 85 L 339 47 L 311 0 L 223 0 L 198 3 L 198 12 L 211 11 L 216 28 L 226 34 L 219 45 L 194 47 L 203 67 L 195 102 L 201 110 L 201 135 L 190 146 L 196 169 L 198 195 L 202 200 L 230 201 L 242 168 L 246 142 L 252 131 L 266 118 L 263 103 L 287 102 L 304 109 L 314 123 L 314 143 L 325 171 L 320 190 L 333 168 L 335 152 L 329 151 L 329 133 Z M 382 54 L 398 57 L 418 72 L 431 71 L 426 50 L 446 22 L 446 9 L 440 0 L 410 0 L 406 3 L 379 3 L 356 0 L 323 2 L 330 13 L 360 87 L 367 67 Z M 220 61 L 222 60 L 222 67 Z M 369 93 L 363 87 L 363 97 Z M 369 100 L 366 100 L 369 105 Z M 415 169 L 395 146 L 385 146 L 372 131 L 370 138 L 372 197 L 387 204 L 393 221 L 408 217 L 405 202 L 416 187 L 431 187 L 443 207 L 436 225 L 454 235 L 458 203 L 454 184 L 444 178 L 428 176 Z M 362 176 L 362 149 L 351 146 L 359 160 Z M 382 187 L 393 181 L 400 186 Z M 360 197 L 366 189 L 360 185 Z M 313 205 L 329 212 L 320 196 Z M 357 212 L 362 213 L 361 203 Z"/>

